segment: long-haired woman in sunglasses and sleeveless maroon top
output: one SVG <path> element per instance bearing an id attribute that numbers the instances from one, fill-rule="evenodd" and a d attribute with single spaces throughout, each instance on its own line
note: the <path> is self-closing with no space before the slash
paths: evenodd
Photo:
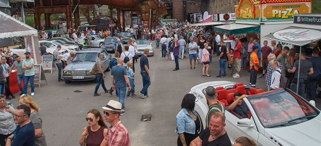
<path id="1" fill-rule="evenodd" d="M 86 121 L 88 126 L 82 130 L 82 136 L 79 140 L 79 144 L 84 143 L 85 137 L 87 137 L 87 146 L 100 145 L 101 141 L 107 133 L 107 125 L 104 122 L 99 110 L 91 109 L 88 111 Z"/>

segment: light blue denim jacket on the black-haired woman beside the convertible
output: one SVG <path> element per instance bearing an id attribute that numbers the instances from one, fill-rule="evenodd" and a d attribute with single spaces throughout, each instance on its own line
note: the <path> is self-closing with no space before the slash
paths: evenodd
<path id="1" fill-rule="evenodd" d="M 192 112 L 196 115 L 194 110 Z M 181 111 L 176 115 L 176 121 L 178 128 L 178 130 L 175 130 L 176 133 L 181 134 L 186 132 L 195 134 L 195 122 L 185 108 L 182 108 Z"/>

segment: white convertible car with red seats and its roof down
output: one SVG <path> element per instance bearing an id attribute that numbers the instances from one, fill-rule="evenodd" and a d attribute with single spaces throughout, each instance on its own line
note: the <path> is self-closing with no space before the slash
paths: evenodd
<path id="1" fill-rule="evenodd" d="M 205 88 L 213 86 L 218 100 L 225 106 L 225 129 L 231 143 L 240 136 L 255 140 L 257 145 L 320 145 L 321 116 L 313 102 L 309 103 L 286 88 L 264 92 L 228 81 L 207 82 L 193 87 L 190 93 L 196 96 L 195 111 L 201 120 L 200 133 L 206 125 L 208 105 Z M 234 93 L 250 95 L 243 98 L 248 107 L 248 117 L 242 118 L 227 107 L 234 101 Z"/>

